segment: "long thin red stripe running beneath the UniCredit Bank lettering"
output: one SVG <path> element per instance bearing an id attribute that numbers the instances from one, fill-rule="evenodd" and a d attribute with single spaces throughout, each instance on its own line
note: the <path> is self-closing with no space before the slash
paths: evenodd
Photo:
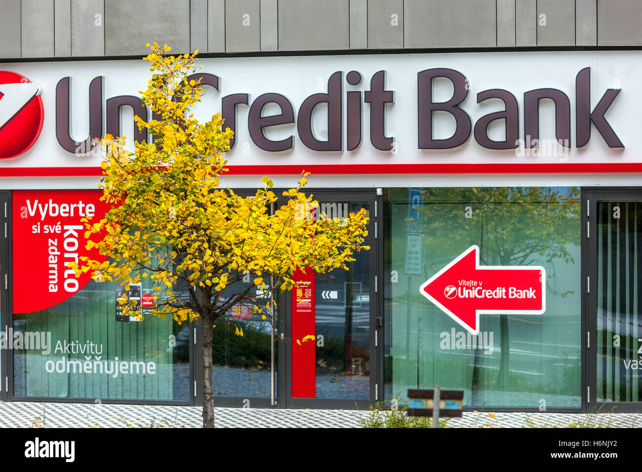
<path id="1" fill-rule="evenodd" d="M 599 164 L 265 164 L 229 166 L 228 175 L 386 175 L 386 174 L 515 174 L 515 173 L 642 173 L 639 162 Z M 100 167 L 4 167 L 0 177 L 99 177 Z"/>

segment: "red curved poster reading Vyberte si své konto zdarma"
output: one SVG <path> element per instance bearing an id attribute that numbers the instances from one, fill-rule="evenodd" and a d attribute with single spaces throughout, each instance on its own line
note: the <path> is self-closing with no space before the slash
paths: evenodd
<path id="1" fill-rule="evenodd" d="M 67 267 L 80 257 L 105 260 L 97 249 L 85 249 L 82 218 L 98 222 L 106 205 L 100 190 L 14 191 L 13 313 L 32 313 L 64 302 L 90 280 L 76 278 Z"/>

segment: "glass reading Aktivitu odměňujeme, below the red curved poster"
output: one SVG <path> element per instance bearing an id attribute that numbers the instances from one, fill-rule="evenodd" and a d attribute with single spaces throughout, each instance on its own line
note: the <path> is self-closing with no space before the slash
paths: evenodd
<path id="1" fill-rule="evenodd" d="M 130 286 L 130 299 L 149 292 L 149 279 L 142 280 Z M 189 324 L 120 315 L 123 291 L 90 281 L 56 306 L 14 314 L 23 344 L 13 349 L 13 394 L 189 401 Z"/>

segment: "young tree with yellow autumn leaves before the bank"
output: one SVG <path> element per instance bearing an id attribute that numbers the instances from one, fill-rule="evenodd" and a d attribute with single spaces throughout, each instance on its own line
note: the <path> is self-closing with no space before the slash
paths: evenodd
<path id="1" fill-rule="evenodd" d="M 144 60 L 154 73 L 141 94 L 153 116 L 149 121 L 136 116 L 135 122 L 153 141 L 134 143 L 132 153 L 124 137 L 101 140 L 106 146 L 101 198 L 110 209 L 99 222 L 87 221 L 85 233 L 97 241 L 90 240 L 87 249 L 98 249 L 101 258 L 83 258 L 70 267 L 76 274 L 91 270 L 94 278 L 118 281 L 125 290 L 150 277 L 151 315 L 202 321 L 203 424 L 213 427 L 215 323 L 230 324 L 239 304 L 250 304 L 273 325 L 276 304 L 258 303 L 257 291 L 265 297 L 277 288 L 298 289 L 297 268 L 347 270 L 355 252 L 369 249 L 361 245 L 368 217 L 362 209 L 342 220 L 311 218 L 318 202 L 301 191 L 309 173 L 282 193 L 280 206 L 268 177 L 251 197 L 220 188 L 232 131 L 223 130 L 220 114 L 207 123 L 193 118 L 202 94 L 200 79 L 190 78 L 198 50 L 168 57 L 167 45 L 148 47 L 152 53 Z M 119 302 L 123 315 L 135 310 L 135 301 L 126 296 Z M 235 333 L 243 336 L 238 327 Z"/>

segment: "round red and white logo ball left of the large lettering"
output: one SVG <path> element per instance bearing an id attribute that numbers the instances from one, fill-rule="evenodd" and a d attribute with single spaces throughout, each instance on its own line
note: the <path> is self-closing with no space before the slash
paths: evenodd
<path id="1" fill-rule="evenodd" d="M 43 120 L 39 85 L 20 74 L 0 71 L 0 159 L 15 157 L 33 146 Z"/>

